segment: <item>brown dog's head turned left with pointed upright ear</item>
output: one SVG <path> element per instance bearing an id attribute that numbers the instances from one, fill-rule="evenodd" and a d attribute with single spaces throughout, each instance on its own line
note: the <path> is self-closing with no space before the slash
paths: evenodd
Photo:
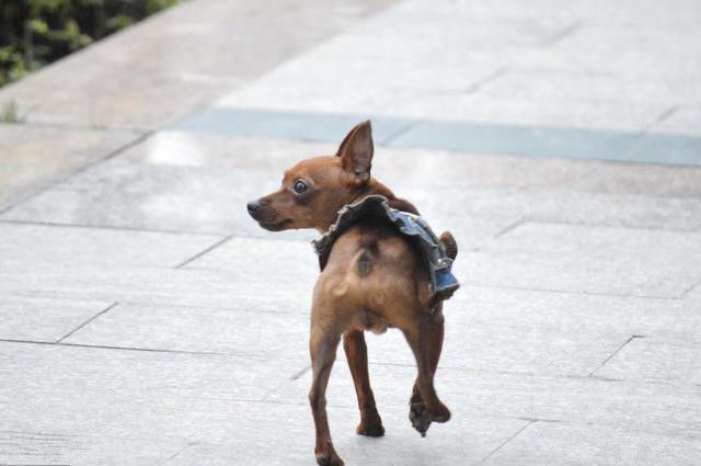
<path id="1" fill-rule="evenodd" d="M 372 150 L 372 129 L 367 121 L 348 133 L 335 156 L 306 159 L 287 170 L 280 189 L 251 201 L 249 214 L 271 231 L 325 231 L 338 209 L 358 196 L 370 180 Z"/>

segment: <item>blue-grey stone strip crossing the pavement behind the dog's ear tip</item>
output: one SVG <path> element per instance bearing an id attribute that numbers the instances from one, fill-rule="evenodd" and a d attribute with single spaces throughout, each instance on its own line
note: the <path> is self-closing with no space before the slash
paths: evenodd
<path id="1" fill-rule="evenodd" d="M 448 101 L 455 103 L 452 95 L 441 96 L 438 105 L 444 109 Z M 489 98 L 491 99 L 491 98 Z M 519 105 L 515 99 L 505 98 L 508 105 Z M 530 102 L 530 101 L 529 101 Z M 412 104 L 415 105 L 415 104 Z M 418 103 L 421 105 L 421 103 Z M 530 105 L 530 103 L 529 103 Z M 470 105 L 471 109 L 479 107 Z M 489 100 L 486 107 L 498 114 L 514 115 L 508 109 L 499 107 L 498 102 Z M 568 107 L 567 105 L 564 105 Z M 601 112 L 601 104 L 593 100 L 591 106 Z M 630 105 L 618 105 L 630 111 Z M 538 112 L 547 111 L 543 105 Z M 509 154 L 531 157 L 565 157 L 578 159 L 637 161 L 668 164 L 701 164 L 698 156 L 701 139 L 682 135 L 641 135 L 634 129 L 654 121 L 666 107 L 658 107 L 643 116 L 636 127 L 628 132 L 591 130 L 581 128 L 559 128 L 556 125 L 563 115 L 552 121 L 527 118 L 536 125 L 509 125 L 494 117 L 476 117 L 476 121 L 496 121 L 494 123 L 468 123 L 446 121 L 450 117 L 441 111 L 440 115 L 427 115 L 426 111 L 412 114 L 412 117 L 387 117 L 368 113 L 322 113 L 290 112 L 279 110 L 250 109 L 207 109 L 181 122 L 176 128 L 187 132 L 204 132 L 235 137 L 258 137 L 292 140 L 342 140 L 348 128 L 370 115 L 375 122 L 375 140 L 390 147 L 421 147 L 458 152 Z M 421 117 L 438 118 L 421 121 Z M 613 115 L 617 122 L 630 122 L 631 118 Z M 600 121 L 600 118 L 597 118 Z M 550 126 L 548 126 L 550 125 Z M 554 125 L 554 126 L 553 126 Z M 577 125 L 575 125 L 577 126 Z M 586 125 L 585 125 L 586 126 Z M 611 126 L 611 125 L 609 125 Z"/>

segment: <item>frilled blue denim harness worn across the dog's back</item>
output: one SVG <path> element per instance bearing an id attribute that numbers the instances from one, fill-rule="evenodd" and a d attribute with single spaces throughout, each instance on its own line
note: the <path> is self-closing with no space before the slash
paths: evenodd
<path id="1" fill-rule="evenodd" d="M 336 221 L 319 239 L 312 241 L 319 255 L 319 266 L 324 270 L 333 243 L 348 228 L 366 218 L 382 218 L 397 228 L 399 232 L 411 238 L 421 251 L 430 276 L 430 289 L 436 302 L 448 299 L 460 287 L 458 280 L 450 271 L 450 259 L 433 232 L 426 220 L 418 215 L 390 207 L 387 197 L 372 194 L 356 204 L 347 204 L 341 211 Z"/>

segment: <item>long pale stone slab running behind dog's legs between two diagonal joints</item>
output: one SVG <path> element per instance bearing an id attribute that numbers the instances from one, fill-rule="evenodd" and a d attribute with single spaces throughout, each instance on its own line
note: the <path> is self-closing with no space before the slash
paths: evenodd
<path id="1" fill-rule="evenodd" d="M 544 316 L 535 314 L 528 318 L 503 302 L 486 303 L 484 295 L 471 293 L 463 299 L 476 300 L 472 306 L 461 306 L 460 303 L 447 305 L 441 367 L 587 375 L 632 334 L 631 329 L 623 325 L 583 328 L 577 314 L 560 316 L 559 322 L 548 321 L 554 310 L 547 308 L 543 309 Z M 493 294 L 487 292 L 486 295 Z M 510 298 L 516 299 L 514 296 Z M 280 309 L 284 312 L 262 312 L 255 309 L 262 307 L 266 299 L 249 296 L 249 302 L 251 310 L 122 304 L 64 341 L 217 352 L 258 360 L 286 360 L 299 370 L 306 367 L 309 364 L 309 306 Z M 475 319 L 474 315 L 482 318 Z M 489 322 L 487 316 L 496 323 Z M 600 316 L 589 318 L 598 319 Z M 381 337 L 368 334 L 366 339 L 371 362 L 415 365 L 399 331 L 392 330 Z M 344 360 L 342 350 L 338 359 Z"/>

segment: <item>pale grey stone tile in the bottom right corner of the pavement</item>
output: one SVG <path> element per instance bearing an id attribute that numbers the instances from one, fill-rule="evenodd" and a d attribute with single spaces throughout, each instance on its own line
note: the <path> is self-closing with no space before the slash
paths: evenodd
<path id="1" fill-rule="evenodd" d="M 566 445 L 566 447 L 563 447 Z M 658 465 L 701 457 L 699 442 L 625 427 L 537 422 L 494 453 L 485 465 Z"/>

